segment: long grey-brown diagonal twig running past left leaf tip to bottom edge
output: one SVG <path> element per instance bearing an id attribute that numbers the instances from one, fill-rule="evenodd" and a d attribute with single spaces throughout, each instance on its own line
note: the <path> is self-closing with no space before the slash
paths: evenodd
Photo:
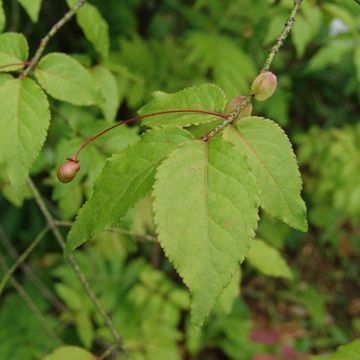
<path id="1" fill-rule="evenodd" d="M 31 189 L 31 192 L 32 192 L 32 194 L 34 196 L 34 199 L 35 199 L 36 203 L 38 204 L 39 209 L 42 212 L 48 227 L 50 228 L 50 230 L 54 234 L 55 239 L 59 243 L 60 247 L 62 249 L 64 249 L 65 248 L 65 240 L 64 240 L 63 236 L 61 235 L 59 229 L 57 228 L 57 225 L 55 223 L 54 218 L 50 214 L 50 212 L 47 209 L 47 207 L 45 205 L 45 202 L 43 201 L 38 189 L 36 188 L 35 184 L 32 182 L 32 180 L 30 178 L 28 180 L 28 183 L 29 183 L 29 187 Z M 99 299 L 97 298 L 94 291 L 92 290 L 92 288 L 91 288 L 88 280 L 86 279 L 84 273 L 81 271 L 80 266 L 79 266 L 78 262 L 76 261 L 75 257 L 70 254 L 68 256 L 68 261 L 69 261 L 71 267 L 73 268 L 73 270 L 75 271 L 77 277 L 79 278 L 79 280 L 80 280 L 84 290 L 86 291 L 87 295 L 89 296 L 89 298 L 91 299 L 91 301 L 95 305 L 99 315 L 103 318 L 106 326 L 109 328 L 110 333 L 111 333 L 112 337 L 114 338 L 116 344 L 118 344 L 121 351 L 126 354 L 127 351 L 124 348 L 123 341 L 120 338 L 120 335 L 118 334 L 117 330 L 115 329 L 115 326 L 114 326 L 111 318 L 106 313 L 104 307 L 102 306 Z"/>

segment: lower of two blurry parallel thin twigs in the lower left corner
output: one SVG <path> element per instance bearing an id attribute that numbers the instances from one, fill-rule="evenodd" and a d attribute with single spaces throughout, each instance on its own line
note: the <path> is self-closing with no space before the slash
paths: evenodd
<path id="1" fill-rule="evenodd" d="M 8 271 L 5 259 L 3 258 L 1 253 L 0 253 L 0 267 L 3 269 L 4 272 Z M 24 300 L 24 302 L 29 307 L 31 312 L 34 314 L 40 325 L 43 327 L 46 334 L 49 337 L 53 338 L 56 342 L 63 344 L 63 341 L 59 338 L 59 336 L 54 332 L 54 330 L 48 324 L 48 321 L 45 319 L 40 309 L 33 302 L 33 300 L 31 299 L 29 294 L 24 290 L 24 288 L 16 281 L 16 279 L 13 276 L 10 277 L 10 281 L 14 286 L 15 290 L 17 291 L 17 293 L 19 294 L 19 296 Z"/>

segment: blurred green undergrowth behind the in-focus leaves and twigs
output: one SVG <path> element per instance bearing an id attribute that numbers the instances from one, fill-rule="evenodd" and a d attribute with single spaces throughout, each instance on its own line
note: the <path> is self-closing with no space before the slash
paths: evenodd
<path id="1" fill-rule="evenodd" d="M 142 127 L 118 128 L 89 147 L 71 184 L 57 181 L 59 164 L 87 136 L 136 114 L 154 90 L 213 82 L 229 98 L 246 95 L 293 5 L 89 3 L 94 8 L 85 19 L 72 19 L 46 51 L 71 54 L 89 68 L 105 100 L 101 109 L 52 100 L 50 132 L 31 171 L 64 235 L 105 158 L 136 141 Z M 2 4 L 5 31 L 23 33 L 31 52 L 67 10 L 65 1 L 44 0 L 38 15 L 40 4 Z M 118 229 L 98 234 L 76 252 L 135 359 L 306 359 L 360 335 L 360 6 L 304 0 L 273 71 L 278 90 L 265 103 L 255 102 L 253 113 L 277 121 L 295 144 L 309 231 L 262 214 L 257 246 L 265 255 L 242 264 L 241 286 L 229 289 L 196 332 L 188 292 L 157 243 L 151 199 L 141 201 Z M 45 222 L 30 191 L 23 199 L 14 196 L 1 169 L 0 188 L 0 254 L 9 267 Z M 100 355 L 112 343 L 109 330 L 52 234 L 43 235 L 15 273 L 18 283 L 9 282 L 0 299 L 0 359 L 41 359 L 62 344 Z"/>

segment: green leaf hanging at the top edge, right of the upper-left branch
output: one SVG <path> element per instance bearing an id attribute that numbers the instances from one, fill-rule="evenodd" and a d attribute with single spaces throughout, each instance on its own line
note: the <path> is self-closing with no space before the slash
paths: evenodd
<path id="1" fill-rule="evenodd" d="M 67 0 L 70 7 L 75 6 L 77 2 L 78 0 Z M 107 57 L 110 48 L 109 25 L 99 10 L 94 5 L 86 3 L 77 11 L 76 20 L 95 50 Z"/>

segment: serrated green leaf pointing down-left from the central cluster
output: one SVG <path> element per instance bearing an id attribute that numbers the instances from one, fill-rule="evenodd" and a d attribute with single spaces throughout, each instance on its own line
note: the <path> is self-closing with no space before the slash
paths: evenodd
<path id="1" fill-rule="evenodd" d="M 119 224 L 128 210 L 150 192 L 155 170 L 164 157 L 191 138 L 182 129 L 153 130 L 114 155 L 97 179 L 93 197 L 78 213 L 68 235 L 67 252 L 96 232 Z"/>

